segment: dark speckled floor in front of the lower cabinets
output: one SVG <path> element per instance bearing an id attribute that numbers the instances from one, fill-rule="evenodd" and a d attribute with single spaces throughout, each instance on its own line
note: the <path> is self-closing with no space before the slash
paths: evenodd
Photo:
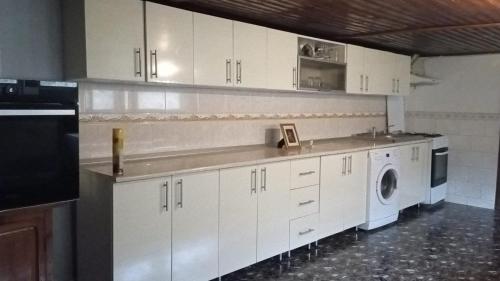
<path id="1" fill-rule="evenodd" d="M 410 208 L 391 226 L 348 230 L 222 280 L 500 280 L 500 212 L 452 203 Z"/>

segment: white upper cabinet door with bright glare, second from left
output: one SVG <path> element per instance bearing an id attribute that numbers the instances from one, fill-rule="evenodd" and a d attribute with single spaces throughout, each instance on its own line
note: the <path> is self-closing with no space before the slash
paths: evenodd
<path id="1" fill-rule="evenodd" d="M 146 2 L 150 82 L 193 84 L 193 13 Z"/>

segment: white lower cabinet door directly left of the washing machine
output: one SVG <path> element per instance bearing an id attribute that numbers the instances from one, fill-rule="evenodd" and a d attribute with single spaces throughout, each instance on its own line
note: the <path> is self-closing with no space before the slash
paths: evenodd
<path id="1" fill-rule="evenodd" d="M 347 156 L 347 180 L 342 201 L 344 229 L 366 222 L 367 152 L 358 152 Z"/>

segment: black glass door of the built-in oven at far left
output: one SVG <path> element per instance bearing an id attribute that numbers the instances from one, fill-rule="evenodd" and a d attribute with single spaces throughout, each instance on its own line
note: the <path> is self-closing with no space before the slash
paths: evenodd
<path id="1" fill-rule="evenodd" d="M 0 108 L 0 211 L 78 198 L 78 113 Z"/>

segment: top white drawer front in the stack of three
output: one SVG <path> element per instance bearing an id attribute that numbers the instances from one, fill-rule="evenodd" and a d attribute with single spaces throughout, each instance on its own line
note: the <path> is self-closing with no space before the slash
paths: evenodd
<path id="1" fill-rule="evenodd" d="M 291 188 L 319 184 L 319 157 L 292 161 Z"/>

